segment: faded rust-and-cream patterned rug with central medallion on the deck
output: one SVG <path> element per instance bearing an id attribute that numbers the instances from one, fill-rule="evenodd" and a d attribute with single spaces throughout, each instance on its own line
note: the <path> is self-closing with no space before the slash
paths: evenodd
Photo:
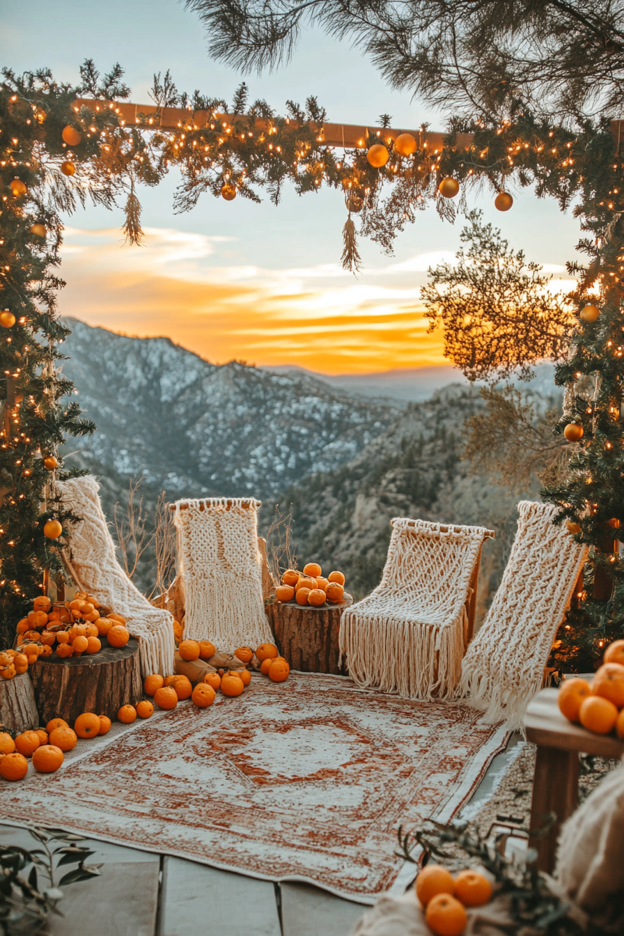
<path id="1" fill-rule="evenodd" d="M 254 677 L 238 699 L 183 703 L 79 742 L 56 774 L 4 782 L 3 812 L 374 903 L 414 878 L 399 825 L 454 816 L 504 746 L 480 717 L 341 677 Z"/>

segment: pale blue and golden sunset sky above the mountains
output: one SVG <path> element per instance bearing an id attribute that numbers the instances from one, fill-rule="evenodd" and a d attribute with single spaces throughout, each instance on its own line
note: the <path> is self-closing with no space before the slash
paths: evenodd
<path id="1" fill-rule="evenodd" d="M 102 10 L 106 9 L 103 16 Z M 36 28 L 24 28 L 25 23 Z M 394 126 L 423 120 L 443 129 L 426 102 L 391 92 L 355 50 L 318 32 L 304 35 L 292 64 L 258 78 L 210 62 L 201 28 L 176 0 L 0 0 L 0 58 L 17 71 L 51 67 L 57 80 L 77 81 L 84 58 L 102 70 L 119 61 L 132 100 L 149 103 L 156 71 L 171 69 L 178 87 L 231 99 L 244 78 L 252 98 L 283 110 L 287 98 L 317 95 L 328 119 L 372 126 L 382 112 Z M 369 373 L 443 364 L 440 334 L 427 334 L 419 287 L 427 268 L 450 259 L 460 221 L 422 212 L 385 256 L 360 241 L 364 271 L 341 270 L 341 194 L 297 197 L 280 207 L 203 196 L 193 212 L 174 214 L 175 173 L 142 189 L 146 242 L 123 244 L 121 211 L 93 207 L 67 217 L 60 307 L 92 325 L 126 334 L 167 335 L 211 361 L 298 364 L 323 373 Z M 262 197 L 263 193 L 260 193 Z M 565 277 L 579 237 L 570 214 L 528 191 L 501 214 L 486 194 L 484 209 L 515 248 Z"/>

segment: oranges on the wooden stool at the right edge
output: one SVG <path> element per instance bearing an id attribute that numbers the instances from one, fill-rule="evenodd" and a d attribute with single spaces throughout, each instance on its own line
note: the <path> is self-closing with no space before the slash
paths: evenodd
<path id="1" fill-rule="evenodd" d="M 624 739 L 624 640 L 610 644 L 602 659 L 591 682 L 563 680 L 559 711 L 597 735 L 608 735 L 615 729 L 617 737 Z"/>

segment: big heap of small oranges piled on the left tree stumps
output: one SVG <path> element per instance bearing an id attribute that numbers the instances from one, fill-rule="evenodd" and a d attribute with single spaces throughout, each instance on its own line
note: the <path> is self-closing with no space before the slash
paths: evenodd
<path id="1" fill-rule="evenodd" d="M 72 601 L 55 605 L 46 595 L 40 595 L 33 610 L 18 622 L 17 635 L 16 650 L 6 651 L 10 660 L 7 662 L 0 654 L 0 677 L 6 680 L 24 673 L 39 656 L 97 653 L 105 637 L 110 647 L 125 647 L 130 639 L 125 618 L 87 592 L 78 592 Z"/>

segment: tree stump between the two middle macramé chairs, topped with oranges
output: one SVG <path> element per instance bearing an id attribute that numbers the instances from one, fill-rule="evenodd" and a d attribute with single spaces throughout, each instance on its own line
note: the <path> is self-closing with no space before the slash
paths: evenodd
<path id="1" fill-rule="evenodd" d="M 342 611 L 352 604 L 353 598 L 345 592 L 337 605 L 312 607 L 297 605 L 296 601 L 276 601 L 265 606 L 278 650 L 291 669 L 346 674 L 341 665 L 338 632 Z"/>

